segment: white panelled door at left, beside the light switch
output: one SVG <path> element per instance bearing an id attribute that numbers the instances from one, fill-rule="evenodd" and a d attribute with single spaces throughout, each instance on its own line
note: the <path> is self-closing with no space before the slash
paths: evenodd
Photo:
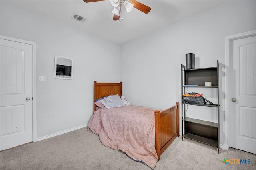
<path id="1" fill-rule="evenodd" d="M 1 150 L 33 141 L 32 45 L 1 39 Z"/>

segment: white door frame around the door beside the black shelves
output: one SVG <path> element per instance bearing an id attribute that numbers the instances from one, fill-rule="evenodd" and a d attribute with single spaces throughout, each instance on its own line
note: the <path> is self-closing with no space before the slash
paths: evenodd
<path id="1" fill-rule="evenodd" d="M 225 75 L 225 87 L 224 87 L 224 94 L 225 95 L 225 107 L 224 107 L 224 149 L 229 149 L 229 136 L 228 136 L 228 132 L 229 132 L 229 128 L 230 128 L 230 124 L 228 123 L 228 117 L 229 117 L 229 99 L 231 97 L 230 92 L 229 92 L 229 88 L 230 87 L 230 67 L 229 67 L 229 59 L 230 59 L 230 42 L 234 41 L 236 39 L 242 39 L 242 38 L 246 38 L 246 37 L 252 37 L 252 36 L 256 36 L 256 30 L 253 31 L 248 31 L 248 32 L 244 32 L 244 33 L 238 33 L 238 34 L 234 34 L 234 35 L 229 35 L 225 37 L 225 71 L 226 71 L 226 75 Z"/>

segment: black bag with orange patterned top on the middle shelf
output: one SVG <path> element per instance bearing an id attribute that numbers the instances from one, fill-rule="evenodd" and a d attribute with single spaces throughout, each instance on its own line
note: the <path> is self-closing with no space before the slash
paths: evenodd
<path id="1" fill-rule="evenodd" d="M 186 104 L 197 104 L 197 105 L 205 105 L 206 102 L 208 102 L 210 105 L 214 105 L 212 102 L 204 98 L 202 94 L 194 93 L 194 92 L 183 94 L 182 102 Z"/>

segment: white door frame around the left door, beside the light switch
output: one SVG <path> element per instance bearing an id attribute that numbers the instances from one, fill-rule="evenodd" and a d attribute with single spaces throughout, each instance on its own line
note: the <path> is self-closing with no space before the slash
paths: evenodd
<path id="1" fill-rule="evenodd" d="M 8 41 L 15 41 L 18 43 L 25 43 L 32 45 L 32 129 L 33 129 L 33 142 L 37 141 L 37 126 L 36 126 L 36 43 L 32 41 L 26 41 L 23 39 L 17 39 L 12 37 L 6 37 L 0 35 L 1 39 Z"/>

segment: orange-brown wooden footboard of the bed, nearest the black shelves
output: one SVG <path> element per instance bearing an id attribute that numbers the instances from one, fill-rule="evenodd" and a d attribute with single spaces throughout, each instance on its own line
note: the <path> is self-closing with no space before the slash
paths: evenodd
<path id="1" fill-rule="evenodd" d="M 166 110 L 155 111 L 156 153 L 158 160 L 179 133 L 179 102 Z"/>

